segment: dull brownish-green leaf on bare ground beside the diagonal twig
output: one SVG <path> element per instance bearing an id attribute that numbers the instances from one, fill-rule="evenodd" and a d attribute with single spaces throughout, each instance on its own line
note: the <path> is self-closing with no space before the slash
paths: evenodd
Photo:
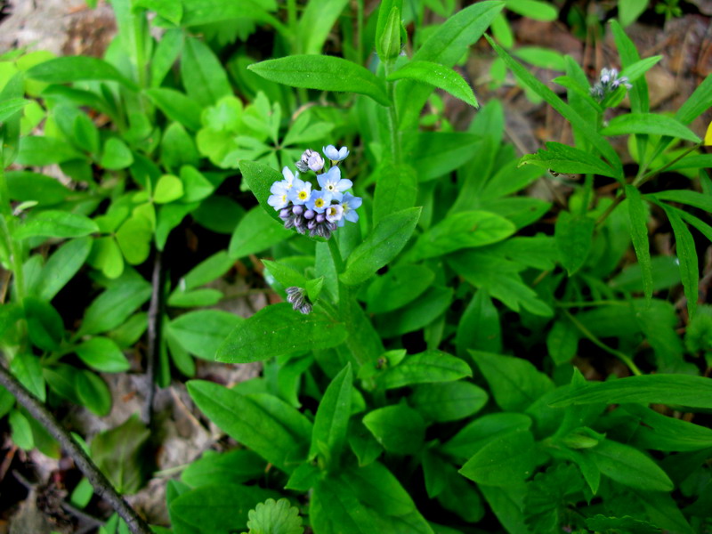
<path id="1" fill-rule="evenodd" d="M 148 480 L 145 452 L 149 438 L 150 430 L 134 415 L 92 440 L 92 459 L 121 493 L 135 493 Z"/>

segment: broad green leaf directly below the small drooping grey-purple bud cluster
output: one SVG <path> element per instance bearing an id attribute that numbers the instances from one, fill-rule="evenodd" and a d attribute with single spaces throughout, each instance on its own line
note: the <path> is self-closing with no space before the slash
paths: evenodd
<path id="1" fill-rule="evenodd" d="M 303 315 L 288 303 L 273 304 L 242 321 L 218 349 L 215 360 L 247 363 L 293 352 L 317 351 L 342 344 L 343 323 L 320 312 Z"/>

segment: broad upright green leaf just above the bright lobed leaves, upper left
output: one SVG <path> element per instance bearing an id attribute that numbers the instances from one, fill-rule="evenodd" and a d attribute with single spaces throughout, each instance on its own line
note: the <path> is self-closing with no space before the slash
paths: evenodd
<path id="1" fill-rule="evenodd" d="M 183 44 L 181 79 L 188 95 L 204 107 L 232 94 L 220 61 L 207 44 L 195 37 L 187 37 Z"/>

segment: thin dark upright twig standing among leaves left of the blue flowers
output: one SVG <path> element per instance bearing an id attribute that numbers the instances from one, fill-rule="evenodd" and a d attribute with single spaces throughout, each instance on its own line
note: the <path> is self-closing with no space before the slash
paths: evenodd
<path id="1" fill-rule="evenodd" d="M 160 358 L 161 350 L 161 326 L 163 324 L 164 309 L 164 273 L 160 250 L 156 250 L 153 260 L 153 274 L 151 276 L 151 286 L 153 292 L 150 295 L 149 304 L 149 347 L 146 354 L 146 379 L 147 392 L 146 404 L 143 407 L 142 419 L 146 425 L 150 426 L 153 418 L 153 399 L 156 395 L 156 367 Z"/>

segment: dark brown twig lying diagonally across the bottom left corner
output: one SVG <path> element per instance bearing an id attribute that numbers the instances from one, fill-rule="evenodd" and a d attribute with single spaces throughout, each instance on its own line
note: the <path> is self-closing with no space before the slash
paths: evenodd
<path id="1" fill-rule="evenodd" d="M 134 534 L 151 534 L 150 526 L 143 521 L 142 517 L 136 513 L 134 508 L 122 498 L 117 490 L 107 480 L 104 473 L 99 471 L 99 468 L 93 463 L 92 459 L 87 456 L 84 449 L 79 447 L 77 441 L 71 437 L 69 432 L 65 430 L 57 419 L 44 407 L 44 404 L 10 374 L 3 365 L 0 364 L 0 385 L 3 385 L 7 391 L 11 392 L 20 404 L 28 410 L 32 417 L 35 417 L 40 425 L 49 432 L 52 437 L 60 443 L 69 457 L 74 460 L 75 465 L 79 468 L 85 477 L 91 482 L 94 492 L 101 498 L 105 499 L 109 505 L 117 511 L 117 514 L 126 522 L 128 529 Z"/>

